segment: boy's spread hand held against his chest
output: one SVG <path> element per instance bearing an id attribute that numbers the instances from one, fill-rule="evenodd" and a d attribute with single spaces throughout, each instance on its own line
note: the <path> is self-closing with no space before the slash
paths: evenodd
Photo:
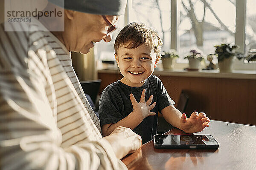
<path id="1" fill-rule="evenodd" d="M 143 89 L 140 97 L 140 103 L 136 101 L 133 94 L 130 94 L 131 104 L 134 109 L 134 112 L 137 112 L 139 115 L 141 115 L 143 119 L 148 116 L 152 116 L 156 114 L 154 112 L 150 112 L 150 110 L 153 109 L 157 104 L 156 102 L 151 104 L 151 102 L 153 101 L 153 95 L 151 95 L 148 101 L 145 102 L 145 93 L 146 93 L 146 90 Z"/>

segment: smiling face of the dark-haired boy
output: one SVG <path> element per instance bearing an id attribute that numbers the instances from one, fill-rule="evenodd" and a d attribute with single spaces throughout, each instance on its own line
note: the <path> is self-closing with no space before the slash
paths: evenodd
<path id="1" fill-rule="evenodd" d="M 144 44 L 135 49 L 128 49 L 120 46 L 115 54 L 116 62 L 124 78 L 121 82 L 131 86 L 140 87 L 146 79 L 152 75 L 159 59 L 151 46 Z"/>

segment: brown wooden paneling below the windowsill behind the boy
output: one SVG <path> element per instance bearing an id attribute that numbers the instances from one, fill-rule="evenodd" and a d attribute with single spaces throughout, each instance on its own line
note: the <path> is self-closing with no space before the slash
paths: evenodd
<path id="1" fill-rule="evenodd" d="M 181 90 L 189 95 L 185 112 L 205 112 L 210 119 L 256 125 L 256 80 L 157 75 L 171 98 L 178 102 Z M 100 94 L 122 78 L 119 72 L 98 73 Z"/>

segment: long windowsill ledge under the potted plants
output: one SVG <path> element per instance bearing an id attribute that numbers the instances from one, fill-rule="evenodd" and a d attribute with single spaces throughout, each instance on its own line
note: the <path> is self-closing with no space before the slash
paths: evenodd
<path id="1" fill-rule="evenodd" d="M 99 73 L 120 74 L 119 69 L 101 69 Z M 256 71 L 234 70 L 233 72 L 219 72 L 218 70 L 186 71 L 183 69 L 163 70 L 157 69 L 153 75 L 202 77 L 202 78 L 232 78 L 256 80 Z"/>

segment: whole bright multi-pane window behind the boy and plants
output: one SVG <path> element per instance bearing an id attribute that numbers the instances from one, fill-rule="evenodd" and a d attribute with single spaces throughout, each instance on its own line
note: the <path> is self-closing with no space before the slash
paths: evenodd
<path id="1" fill-rule="evenodd" d="M 236 43 L 240 52 L 256 49 L 255 0 L 128 0 L 128 6 L 127 23 L 136 21 L 154 28 L 163 40 L 162 51 L 176 48 L 180 55 L 177 68 L 187 67 L 184 57 L 191 49 L 199 49 L 205 56 L 214 53 L 214 45 L 221 43 Z M 171 22 L 173 18 L 177 24 Z M 123 20 L 119 22 L 119 28 L 122 26 Z M 100 58 L 113 59 L 113 43 L 119 31 L 114 32 L 111 43 L 99 43 Z M 236 61 L 235 69 L 256 69 L 249 65 Z"/>

